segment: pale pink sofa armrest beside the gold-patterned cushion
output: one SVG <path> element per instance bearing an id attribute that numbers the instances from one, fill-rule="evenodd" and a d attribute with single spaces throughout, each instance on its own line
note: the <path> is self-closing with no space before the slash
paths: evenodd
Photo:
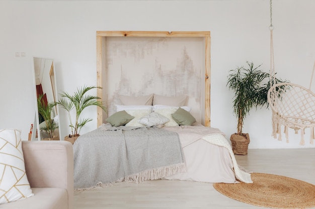
<path id="1" fill-rule="evenodd" d="M 68 141 L 22 141 L 31 187 L 64 188 L 73 208 L 73 147 Z"/>

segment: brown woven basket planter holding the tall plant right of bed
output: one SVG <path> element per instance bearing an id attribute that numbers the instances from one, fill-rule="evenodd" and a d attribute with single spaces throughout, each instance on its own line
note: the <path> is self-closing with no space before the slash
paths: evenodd
<path id="1" fill-rule="evenodd" d="M 250 143 L 250 135 L 248 133 L 242 135 L 234 133 L 231 135 L 230 140 L 232 142 L 232 150 L 234 154 L 247 154 L 248 144 Z"/>

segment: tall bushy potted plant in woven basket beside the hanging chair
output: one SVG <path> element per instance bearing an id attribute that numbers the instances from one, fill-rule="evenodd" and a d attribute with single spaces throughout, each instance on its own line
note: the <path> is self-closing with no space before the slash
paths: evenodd
<path id="1" fill-rule="evenodd" d="M 247 154 L 250 136 L 243 133 L 244 119 L 253 107 L 268 107 L 267 93 L 271 87 L 270 74 L 254 67 L 252 62 L 247 62 L 248 68 L 237 67 L 230 70 L 226 86 L 233 90 L 233 113 L 237 116 L 237 133 L 230 136 L 234 154 Z M 276 83 L 284 83 L 275 79 Z"/>

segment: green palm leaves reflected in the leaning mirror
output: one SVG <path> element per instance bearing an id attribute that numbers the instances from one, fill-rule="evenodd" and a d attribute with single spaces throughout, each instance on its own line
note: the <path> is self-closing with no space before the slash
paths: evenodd
<path id="1" fill-rule="evenodd" d="M 40 95 L 37 98 L 39 117 L 43 120 L 43 125 L 39 128 L 45 133 L 43 135 L 46 136 L 46 138 L 41 138 L 41 140 L 54 140 L 55 138 L 57 138 L 54 136 L 54 130 L 58 128 L 58 125 L 53 121 L 53 117 L 55 114 L 54 107 L 56 106 L 56 103 L 50 102 L 48 104 L 45 104 L 43 97 L 44 95 Z M 43 136 L 41 135 L 41 137 Z"/>

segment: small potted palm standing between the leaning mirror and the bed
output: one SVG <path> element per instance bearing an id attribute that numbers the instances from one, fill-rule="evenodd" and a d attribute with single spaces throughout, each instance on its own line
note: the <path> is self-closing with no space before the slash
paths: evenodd
<path id="1" fill-rule="evenodd" d="M 103 102 L 100 101 L 100 97 L 87 95 L 87 92 L 101 87 L 96 86 L 83 86 L 77 88 L 77 91 L 70 95 L 66 92 L 60 94 L 61 98 L 57 104 L 65 109 L 68 113 L 69 127 L 71 128 L 71 134 L 65 136 L 64 140 L 70 141 L 72 144 L 80 136 L 81 128 L 84 127 L 88 122 L 92 121 L 92 118 L 81 118 L 81 113 L 89 106 L 98 106 L 106 111 L 106 107 Z M 74 118 L 72 119 L 71 113 L 74 112 Z"/>

